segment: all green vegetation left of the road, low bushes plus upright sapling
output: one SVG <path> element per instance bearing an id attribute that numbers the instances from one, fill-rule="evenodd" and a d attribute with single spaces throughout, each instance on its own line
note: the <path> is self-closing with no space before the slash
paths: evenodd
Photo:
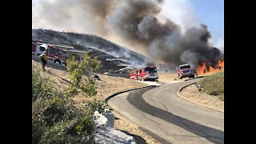
<path id="1" fill-rule="evenodd" d="M 85 54 L 82 62 L 72 58 L 67 67 L 72 84 L 66 91 L 60 91 L 49 78 L 42 77 L 39 66 L 32 66 L 32 143 L 79 143 L 82 139 L 92 142 L 94 138 L 94 111 L 104 113 L 106 104 L 95 99 L 78 106 L 72 98 L 78 93 L 87 97 L 97 93 L 90 75 L 101 66 L 97 58 Z M 88 72 L 86 83 L 81 81 L 84 70 Z"/>

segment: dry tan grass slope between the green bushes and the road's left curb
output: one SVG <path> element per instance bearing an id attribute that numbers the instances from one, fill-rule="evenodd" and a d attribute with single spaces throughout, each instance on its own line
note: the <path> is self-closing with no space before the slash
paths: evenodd
<path id="1" fill-rule="evenodd" d="M 34 60 L 32 60 L 32 65 L 41 66 L 39 62 L 35 62 Z M 46 72 L 42 71 L 42 76 L 49 78 L 52 82 L 54 82 L 54 86 L 58 90 L 64 91 L 70 86 L 70 83 L 65 81 L 70 81 L 70 74 L 65 70 L 57 70 L 46 66 Z M 137 82 L 128 78 L 110 77 L 104 74 L 98 74 L 98 76 L 101 78 L 101 81 L 97 81 L 97 94 L 93 98 L 88 98 L 84 94 L 78 94 L 76 97 L 74 97 L 75 102 L 82 104 L 90 102 L 94 98 L 105 100 L 105 98 L 109 97 L 110 95 L 123 90 L 148 86 L 146 83 Z"/>

